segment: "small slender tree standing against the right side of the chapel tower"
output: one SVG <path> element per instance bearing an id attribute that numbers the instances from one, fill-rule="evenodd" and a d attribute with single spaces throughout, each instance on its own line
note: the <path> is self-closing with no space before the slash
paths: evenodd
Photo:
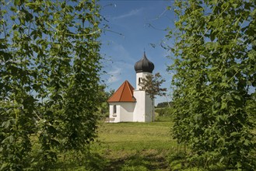
<path id="1" fill-rule="evenodd" d="M 146 78 L 142 78 L 140 83 L 142 90 L 145 90 L 152 99 L 152 121 L 154 121 L 154 99 L 156 96 L 164 96 L 167 91 L 166 88 L 160 88 L 163 82 L 165 82 L 165 79 L 157 72 L 155 75 L 146 75 Z"/>

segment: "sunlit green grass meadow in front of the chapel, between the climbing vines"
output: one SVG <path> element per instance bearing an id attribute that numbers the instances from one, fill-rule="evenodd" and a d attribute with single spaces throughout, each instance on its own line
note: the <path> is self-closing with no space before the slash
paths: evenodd
<path id="1" fill-rule="evenodd" d="M 106 123 L 100 121 L 98 137 L 86 155 L 64 152 L 51 170 L 146 171 L 207 170 L 186 167 L 184 148 L 172 139 L 173 121 L 156 117 L 153 123 Z M 254 130 L 255 131 L 255 130 Z M 36 141 L 36 140 L 35 140 Z M 34 149 L 37 152 L 37 148 Z M 186 150 L 188 151 L 188 149 Z M 38 169 L 38 166 L 36 166 Z M 219 170 L 219 169 L 212 169 Z M 225 169 L 223 169 L 225 170 Z"/>

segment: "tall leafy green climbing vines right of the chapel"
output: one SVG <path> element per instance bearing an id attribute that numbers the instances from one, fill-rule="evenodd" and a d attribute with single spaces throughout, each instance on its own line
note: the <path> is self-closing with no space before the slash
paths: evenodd
<path id="1" fill-rule="evenodd" d="M 174 138 L 200 167 L 254 170 L 255 3 L 175 5 Z"/>

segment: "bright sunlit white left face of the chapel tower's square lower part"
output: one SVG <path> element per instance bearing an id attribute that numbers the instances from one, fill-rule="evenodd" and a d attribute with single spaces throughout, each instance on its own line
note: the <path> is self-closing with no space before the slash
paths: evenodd
<path id="1" fill-rule="evenodd" d="M 133 114 L 133 121 L 145 122 L 145 104 L 146 104 L 146 92 L 140 90 L 134 90 L 133 96 L 135 96 L 137 103 L 135 105 L 135 111 Z"/>

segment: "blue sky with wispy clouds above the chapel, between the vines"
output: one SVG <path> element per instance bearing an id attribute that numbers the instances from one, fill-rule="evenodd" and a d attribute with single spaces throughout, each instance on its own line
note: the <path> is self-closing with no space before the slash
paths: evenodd
<path id="1" fill-rule="evenodd" d="M 107 72 L 102 79 L 107 84 L 107 91 L 117 90 L 125 80 L 135 87 L 134 65 L 142 58 L 145 49 L 147 58 L 155 65 L 153 73 L 160 72 L 167 80 L 163 87 L 168 89 L 170 100 L 171 75 L 167 65 L 171 60 L 160 43 L 167 34 L 165 29 L 174 28 L 174 12 L 167 10 L 172 4 L 173 1 L 100 1 L 101 15 L 109 26 L 100 38 L 100 53 L 105 58 L 103 70 Z M 156 103 L 163 101 L 167 98 L 156 97 Z"/>

